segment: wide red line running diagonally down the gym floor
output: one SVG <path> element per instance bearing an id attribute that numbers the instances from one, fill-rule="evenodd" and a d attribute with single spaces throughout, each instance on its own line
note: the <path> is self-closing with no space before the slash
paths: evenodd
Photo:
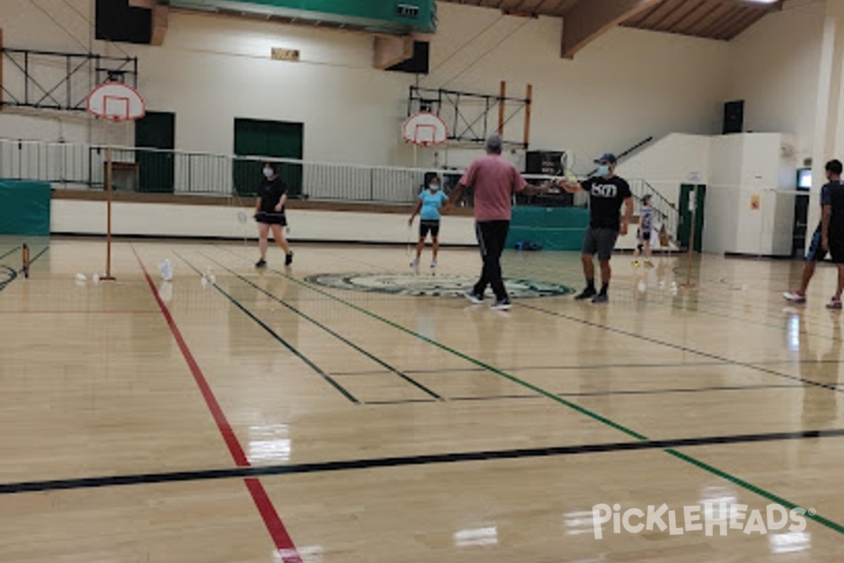
<path id="1" fill-rule="evenodd" d="M 193 357 L 191 349 L 187 347 L 185 339 L 182 338 L 181 331 L 176 326 L 176 321 L 174 321 L 173 316 L 170 315 L 170 310 L 167 308 L 164 301 L 161 300 L 158 290 L 155 288 L 153 279 L 149 277 L 147 268 L 143 266 L 141 257 L 138 256 L 138 252 L 135 251 L 134 247 L 132 248 L 132 252 L 143 271 L 143 277 L 147 279 L 149 290 L 153 292 L 155 302 L 158 303 L 161 314 L 164 315 L 165 321 L 167 321 L 167 325 L 170 327 L 170 333 L 173 333 L 173 338 L 176 339 L 176 344 L 179 345 L 181 355 L 184 356 L 187 366 L 191 369 L 193 379 L 197 382 L 199 390 L 203 393 L 203 398 L 205 398 L 205 403 L 208 405 L 208 410 L 210 410 L 211 414 L 214 416 L 214 422 L 217 424 L 217 428 L 223 436 L 225 445 L 229 447 L 231 457 L 234 458 L 238 467 L 250 467 L 251 463 L 249 463 L 249 459 L 246 458 L 246 453 L 243 452 L 241 442 L 237 440 L 234 430 L 231 429 L 229 421 L 226 420 L 223 409 L 219 406 L 217 398 L 214 397 L 214 392 L 208 385 L 208 380 L 205 379 L 202 369 L 197 364 L 197 360 Z M 290 538 L 287 528 L 284 527 L 284 522 L 281 521 L 279 513 L 275 511 L 273 501 L 270 500 L 269 495 L 267 495 L 267 491 L 261 484 L 261 481 L 255 478 L 243 480 L 246 483 L 246 489 L 248 489 L 249 493 L 252 495 L 252 501 L 255 502 L 258 512 L 261 513 L 264 525 L 267 527 L 267 531 L 273 539 L 276 549 L 279 550 L 281 560 L 283 560 L 284 563 L 304 563 L 301 555 L 299 555 L 299 550 L 296 549 L 293 539 Z"/>

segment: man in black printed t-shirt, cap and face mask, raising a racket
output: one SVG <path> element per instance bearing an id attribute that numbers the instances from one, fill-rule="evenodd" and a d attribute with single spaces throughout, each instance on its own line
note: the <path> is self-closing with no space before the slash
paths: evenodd
<path id="1" fill-rule="evenodd" d="M 598 176 L 589 178 L 582 183 L 564 181 L 560 184 L 566 192 L 574 193 L 583 190 L 589 193 L 589 226 L 583 235 L 583 274 L 586 276 L 586 289 L 576 300 L 592 299 L 592 303 L 606 303 L 609 301 L 609 279 L 612 270 L 609 259 L 613 256 L 615 242 L 619 234 L 626 235 L 633 215 L 633 194 L 630 184 L 623 178 L 615 176 L 615 165 L 618 160 L 614 154 L 604 154 L 595 161 L 599 165 Z M 621 218 L 621 204 L 625 204 L 625 216 Z M 601 291 L 595 290 L 595 263 L 593 257 L 598 254 L 601 264 Z"/>

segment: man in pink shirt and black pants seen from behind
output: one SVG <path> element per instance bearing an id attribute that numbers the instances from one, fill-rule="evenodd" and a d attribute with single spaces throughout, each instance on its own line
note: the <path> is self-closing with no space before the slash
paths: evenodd
<path id="1" fill-rule="evenodd" d="M 460 194 L 467 187 L 474 188 L 475 233 L 478 236 L 480 254 L 484 269 L 478 283 L 466 292 L 466 298 L 476 305 L 484 302 L 484 292 L 491 285 L 495 292 L 496 311 L 511 308 L 510 297 L 501 278 L 501 252 L 510 230 L 513 192 L 544 193 L 549 188 L 528 186 L 516 166 L 501 156 L 503 143 L 498 135 L 486 142 L 486 156 L 475 160 L 461 178 L 446 204 L 446 212 L 452 208 Z"/>

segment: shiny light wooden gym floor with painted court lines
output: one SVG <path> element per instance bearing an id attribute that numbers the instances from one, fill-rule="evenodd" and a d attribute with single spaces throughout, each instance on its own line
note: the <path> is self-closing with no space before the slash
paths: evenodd
<path id="1" fill-rule="evenodd" d="M 703 257 L 674 295 L 681 260 L 618 256 L 609 306 L 495 313 L 308 279 L 406 274 L 403 247 L 300 246 L 288 271 L 273 249 L 257 273 L 252 246 L 120 242 L 117 281 L 94 284 L 74 276 L 100 241 L 30 241 L 30 279 L 19 242 L 0 240 L 0 561 L 844 557 L 831 268 L 789 307 L 800 263 Z M 446 250 L 440 275 L 478 264 Z M 504 264 L 582 286 L 576 254 Z M 808 523 L 595 536 L 596 505 L 719 501 Z"/>

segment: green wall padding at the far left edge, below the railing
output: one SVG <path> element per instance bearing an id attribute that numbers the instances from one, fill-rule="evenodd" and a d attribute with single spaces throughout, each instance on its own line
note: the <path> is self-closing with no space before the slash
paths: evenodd
<path id="1" fill-rule="evenodd" d="M 0 235 L 50 235 L 50 184 L 0 180 Z"/>

